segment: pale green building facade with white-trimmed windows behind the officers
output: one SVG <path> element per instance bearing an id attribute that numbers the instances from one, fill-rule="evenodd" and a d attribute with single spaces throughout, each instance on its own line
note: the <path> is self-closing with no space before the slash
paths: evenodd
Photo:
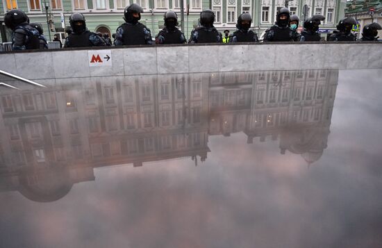
<path id="1" fill-rule="evenodd" d="M 111 35 L 124 22 L 124 8 L 133 2 L 140 4 L 144 9 L 141 22 L 151 29 L 153 36 L 163 28 L 163 15 L 167 10 L 175 10 L 178 18 L 181 17 L 179 0 L 1 0 L 0 15 L 13 8 L 22 9 L 28 14 L 31 22 L 43 24 L 44 34 L 49 38 L 47 19 L 52 21 L 50 24 L 52 33 L 63 33 L 61 15 L 65 17 L 65 26 L 69 26 L 69 15 L 81 12 L 85 15 L 90 31 Z M 199 13 L 207 8 L 215 12 L 215 26 L 219 31 L 226 29 L 234 31 L 238 15 L 244 12 L 251 13 L 254 20 L 252 28 L 260 35 L 274 23 L 276 11 L 285 6 L 283 0 L 184 0 L 183 4 L 185 8 L 190 7 L 189 15 L 185 14 L 183 28 L 187 38 L 192 28 L 198 25 Z M 308 6 L 308 16 L 321 14 L 326 17 L 321 29 L 322 33 L 329 33 L 344 16 L 346 2 L 344 0 L 290 1 L 291 14 L 300 17 L 300 26 L 304 19 L 304 5 Z M 45 6 L 48 6 L 48 15 Z"/>

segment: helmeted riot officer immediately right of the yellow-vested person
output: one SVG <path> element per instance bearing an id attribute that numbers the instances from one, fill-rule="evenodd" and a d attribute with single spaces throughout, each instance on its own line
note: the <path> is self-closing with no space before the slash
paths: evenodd
<path id="1" fill-rule="evenodd" d="M 236 24 L 237 31 L 229 38 L 229 42 L 258 42 L 257 34 L 251 31 L 252 17 L 249 13 L 242 13 L 238 17 L 238 23 Z"/>

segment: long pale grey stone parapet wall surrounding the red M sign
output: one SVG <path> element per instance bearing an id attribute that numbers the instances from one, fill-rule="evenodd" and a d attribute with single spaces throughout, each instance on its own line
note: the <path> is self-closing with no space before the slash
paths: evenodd
<path id="1" fill-rule="evenodd" d="M 105 49 L 106 50 L 106 49 Z M 113 66 L 90 67 L 88 51 L 0 53 L 0 69 L 28 79 L 382 68 L 382 43 L 233 44 L 110 48 Z"/>

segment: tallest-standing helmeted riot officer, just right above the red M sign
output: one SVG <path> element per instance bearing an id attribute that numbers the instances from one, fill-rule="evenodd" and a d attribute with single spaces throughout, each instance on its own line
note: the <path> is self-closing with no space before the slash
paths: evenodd
<path id="1" fill-rule="evenodd" d="M 151 31 L 140 22 L 140 13 L 143 9 L 136 3 L 126 6 L 124 10 L 125 23 L 117 28 L 115 46 L 133 44 L 153 44 Z"/>

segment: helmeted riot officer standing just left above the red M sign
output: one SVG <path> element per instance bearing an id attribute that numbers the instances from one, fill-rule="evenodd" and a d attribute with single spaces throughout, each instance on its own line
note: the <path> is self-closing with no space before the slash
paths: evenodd
<path id="1" fill-rule="evenodd" d="M 69 17 L 73 33 L 65 39 L 64 47 L 103 47 L 105 41 L 86 28 L 85 17 L 81 13 L 74 13 Z"/>

